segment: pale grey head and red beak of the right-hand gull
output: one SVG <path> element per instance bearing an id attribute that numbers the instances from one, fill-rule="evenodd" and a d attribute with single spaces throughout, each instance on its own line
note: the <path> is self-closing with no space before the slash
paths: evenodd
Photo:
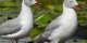
<path id="1" fill-rule="evenodd" d="M 75 8 L 75 6 L 77 6 L 77 8 L 79 8 L 79 9 L 83 9 L 83 6 L 79 5 L 76 0 L 64 0 L 64 5 L 65 5 L 66 8 L 71 8 L 71 9 L 73 9 L 73 8 Z"/>

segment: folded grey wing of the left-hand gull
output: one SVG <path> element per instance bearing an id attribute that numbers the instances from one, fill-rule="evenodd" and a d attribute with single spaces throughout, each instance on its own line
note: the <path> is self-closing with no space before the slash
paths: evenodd
<path id="1" fill-rule="evenodd" d="M 21 27 L 17 18 L 8 20 L 0 26 L 0 35 L 15 33 L 21 30 Z"/>

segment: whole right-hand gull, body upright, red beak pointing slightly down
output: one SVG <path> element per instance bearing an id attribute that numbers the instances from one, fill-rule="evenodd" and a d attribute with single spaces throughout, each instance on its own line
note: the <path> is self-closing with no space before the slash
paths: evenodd
<path id="1" fill-rule="evenodd" d="M 64 0 L 63 13 L 51 22 L 42 33 L 34 39 L 34 43 L 64 43 L 75 32 L 77 27 L 77 15 L 74 8 L 83 9 L 76 0 Z"/>

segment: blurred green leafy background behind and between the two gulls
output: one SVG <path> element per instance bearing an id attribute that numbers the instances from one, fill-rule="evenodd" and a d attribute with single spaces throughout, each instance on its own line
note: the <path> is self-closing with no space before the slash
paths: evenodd
<path id="1" fill-rule="evenodd" d="M 42 6 L 33 5 L 35 28 L 30 33 L 34 39 L 41 33 L 45 27 L 62 14 L 63 0 L 37 0 Z M 84 6 L 83 10 L 75 9 L 78 16 L 78 28 L 73 38 L 66 43 L 87 43 L 87 0 L 77 0 Z M 21 11 L 22 0 L 0 0 L 0 24 L 15 18 Z"/>

